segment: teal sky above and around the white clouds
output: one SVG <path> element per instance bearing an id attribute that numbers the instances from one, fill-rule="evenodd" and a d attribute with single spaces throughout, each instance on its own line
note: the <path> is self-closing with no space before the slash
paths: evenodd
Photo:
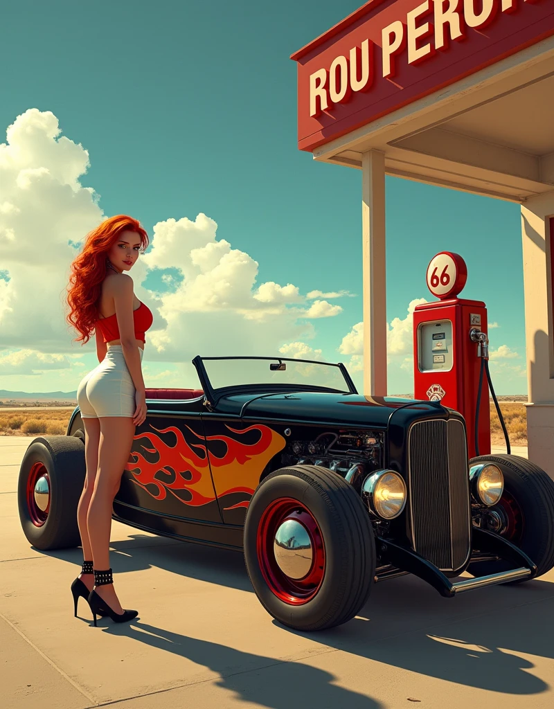
<path id="1" fill-rule="evenodd" d="M 329 304 L 326 317 L 312 319 L 304 312 L 302 327 L 294 330 L 294 320 L 287 316 L 283 329 L 276 328 L 276 339 L 267 340 L 271 351 L 263 354 L 303 342 L 308 355 L 321 350 L 317 356 L 323 359 L 351 364 L 360 383 L 359 350 L 352 345 L 352 333 L 362 319 L 361 173 L 320 164 L 297 149 L 296 65 L 289 59 L 360 4 L 10 4 L 3 10 L 9 31 L 0 45 L 0 128 L 4 132 L 29 109 L 38 109 L 33 125 L 40 125 L 40 116 L 50 111 L 61 131 L 57 138 L 50 137 L 50 144 L 65 136 L 88 152 L 89 167 L 77 182 L 94 190 L 101 216 L 128 213 L 138 218 L 150 235 L 149 252 L 155 249 L 155 224 L 181 218 L 194 222 L 204 213 L 217 224 L 216 240 L 228 241 L 233 250 L 257 262 L 253 287 L 293 284 L 304 298 L 310 291 L 331 293 L 317 296 Z M 20 133 L 18 140 L 28 140 L 28 130 Z M 5 133 L 0 143 L 9 143 Z M 26 150 L 36 152 L 28 164 L 40 167 L 42 143 L 29 145 Z M 1 169 L 0 162 L 0 205 L 2 191 L 4 200 L 9 191 Z M 50 164 L 48 169 L 54 174 Z M 38 213 L 38 203 L 43 200 L 20 208 Z M 10 294 L 4 286 L 4 303 L 12 308 L 2 315 L 0 287 L 0 389 L 74 391 L 82 374 L 98 363 L 94 342 L 84 348 L 71 342 L 75 333 L 67 330 L 57 302 L 67 281 L 63 268 L 57 280 L 52 277 L 55 268 L 50 269 L 48 258 L 42 263 L 53 300 L 51 327 L 37 330 L 23 316 L 28 312 L 23 300 L 29 296 L 24 284 L 35 284 L 39 277 L 31 267 L 25 270 L 26 259 L 37 259 L 40 273 L 40 255 L 52 252 L 50 239 L 55 242 L 60 233 L 44 225 L 63 223 L 68 239 L 79 242 L 98 222 L 87 206 L 86 216 L 74 219 L 72 233 L 63 204 L 60 199 L 58 211 L 50 216 L 46 212 L 35 228 L 31 221 L 18 222 L 19 252 L 3 252 L 10 227 L 0 214 L 0 275 L 4 284 L 11 282 Z M 411 354 L 406 350 L 408 306 L 415 298 L 433 299 L 425 272 L 441 250 L 465 258 L 469 277 L 462 295 L 484 300 L 489 322 L 498 325 L 489 333 L 492 350 L 498 353 L 492 359 L 497 393 L 526 393 L 519 206 L 396 178 L 387 178 L 387 320 L 391 336 L 397 337 L 394 342 L 400 337 L 404 345 L 396 347 L 389 362 L 389 392 L 413 391 Z M 57 263 L 66 259 L 69 265 L 67 258 L 60 255 Z M 171 260 L 153 258 L 142 272 L 133 270 L 131 275 L 138 286 L 135 293 L 152 308 L 163 302 L 160 294 L 170 293 L 182 281 L 183 269 L 172 268 Z M 332 297 L 340 291 L 350 295 Z M 158 300 L 149 300 L 151 293 Z M 313 301 L 304 300 L 305 310 Z M 336 306 L 342 310 L 333 315 Z M 161 340 L 147 333 L 147 386 L 195 386 L 187 369 L 189 354 L 211 354 L 206 349 L 213 345 L 198 336 L 198 328 L 217 330 L 218 318 L 227 320 L 224 307 L 205 320 L 202 312 L 187 320 L 186 350 L 168 334 L 174 349 L 162 352 Z M 260 326 L 260 337 L 262 331 Z M 256 332 L 244 332 L 243 351 L 228 353 L 261 354 L 254 342 Z M 349 333 L 352 346 L 342 345 L 340 351 Z M 224 342 L 218 345 L 225 350 Z"/>

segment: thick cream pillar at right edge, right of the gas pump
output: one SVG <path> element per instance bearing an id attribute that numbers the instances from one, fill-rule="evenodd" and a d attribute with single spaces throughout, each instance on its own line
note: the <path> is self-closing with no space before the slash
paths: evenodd
<path id="1" fill-rule="evenodd" d="M 549 218 L 554 191 L 521 204 L 528 457 L 554 479 L 554 313 Z"/>

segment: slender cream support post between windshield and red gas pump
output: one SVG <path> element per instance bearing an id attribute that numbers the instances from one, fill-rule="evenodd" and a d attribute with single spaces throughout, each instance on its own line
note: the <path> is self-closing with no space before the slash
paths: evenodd
<path id="1" fill-rule="evenodd" d="M 384 153 L 362 153 L 364 393 L 387 394 Z"/>

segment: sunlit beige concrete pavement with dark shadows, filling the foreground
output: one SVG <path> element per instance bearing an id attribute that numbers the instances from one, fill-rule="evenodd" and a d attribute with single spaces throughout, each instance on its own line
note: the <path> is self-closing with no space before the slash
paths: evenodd
<path id="1" fill-rule="evenodd" d="M 373 587 L 333 630 L 279 626 L 243 557 L 112 523 L 111 566 L 139 617 L 92 626 L 70 584 L 80 549 L 21 532 L 17 477 L 33 440 L 0 437 L 0 675 L 9 709 L 551 707 L 554 571 L 442 598 L 412 576 Z M 514 451 L 515 452 L 515 451 Z"/>

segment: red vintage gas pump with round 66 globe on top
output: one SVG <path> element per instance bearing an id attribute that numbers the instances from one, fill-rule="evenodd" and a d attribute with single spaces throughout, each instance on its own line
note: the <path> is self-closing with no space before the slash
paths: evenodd
<path id="1" fill-rule="evenodd" d="M 467 267 L 458 254 L 443 251 L 427 267 L 428 289 L 439 300 L 414 311 L 414 398 L 441 401 L 462 414 L 472 458 L 491 452 L 489 384 L 510 453 L 489 374 L 487 308 L 482 301 L 457 297 L 466 280 Z"/>

